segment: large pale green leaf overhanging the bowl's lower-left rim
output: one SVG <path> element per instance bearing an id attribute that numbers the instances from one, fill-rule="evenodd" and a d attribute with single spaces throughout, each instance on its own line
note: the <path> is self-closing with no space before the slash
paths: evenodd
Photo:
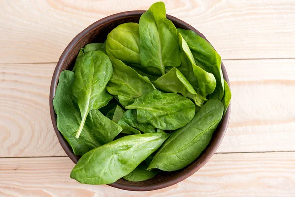
<path id="1" fill-rule="evenodd" d="M 169 137 L 165 133 L 128 135 L 84 154 L 71 178 L 85 184 L 110 184 L 132 172 Z"/>

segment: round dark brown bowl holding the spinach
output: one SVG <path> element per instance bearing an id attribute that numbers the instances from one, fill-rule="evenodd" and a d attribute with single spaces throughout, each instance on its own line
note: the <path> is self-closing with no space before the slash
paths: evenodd
<path id="1" fill-rule="evenodd" d="M 57 128 L 57 123 L 56 123 L 56 114 L 54 112 L 53 104 L 52 104 L 52 101 L 56 92 L 56 87 L 59 81 L 59 75 L 63 70 L 71 70 L 73 68 L 74 62 L 76 60 L 76 56 L 80 48 L 84 47 L 88 43 L 104 42 L 106 40 L 107 34 L 112 29 L 114 29 L 115 27 L 117 27 L 118 25 L 122 23 L 127 23 L 127 22 L 138 23 L 140 16 L 144 12 L 145 11 L 122 12 L 122 13 L 108 16 L 99 21 L 96 21 L 95 23 L 90 25 L 88 28 L 83 30 L 81 33 L 79 33 L 70 42 L 70 44 L 66 47 L 66 49 L 63 51 L 62 55 L 59 58 L 59 62 L 54 70 L 51 86 L 50 86 L 50 96 L 49 96 L 50 115 L 51 115 L 53 128 L 56 132 L 56 135 L 59 139 L 59 142 L 62 148 L 75 164 L 79 160 L 79 157 L 74 155 L 71 147 L 69 146 L 69 144 L 66 142 L 66 140 L 63 138 L 63 136 L 59 132 Z M 167 15 L 167 18 L 171 20 L 176 27 L 187 29 L 187 30 L 193 30 L 202 38 L 206 39 L 204 35 L 202 35 L 200 32 L 198 32 L 195 28 L 193 28 L 189 24 L 170 15 Z M 222 66 L 224 79 L 229 83 L 225 67 L 223 64 L 221 64 L 221 66 Z M 130 182 L 124 179 L 119 179 L 115 183 L 112 183 L 109 185 L 116 188 L 124 189 L 124 190 L 148 191 L 148 190 L 157 190 L 160 188 L 165 188 L 165 187 L 174 185 L 186 179 L 187 177 L 191 176 L 196 171 L 198 171 L 204 164 L 207 163 L 207 161 L 212 157 L 212 155 L 215 153 L 215 151 L 219 147 L 223 139 L 223 136 L 227 130 L 227 126 L 228 126 L 228 122 L 230 118 L 230 112 L 231 112 L 231 105 L 228 107 L 221 125 L 214 132 L 213 138 L 210 144 L 202 152 L 202 154 L 193 163 L 189 164 L 187 167 L 174 172 L 160 173 L 156 175 L 155 177 L 148 179 L 146 181 Z"/>

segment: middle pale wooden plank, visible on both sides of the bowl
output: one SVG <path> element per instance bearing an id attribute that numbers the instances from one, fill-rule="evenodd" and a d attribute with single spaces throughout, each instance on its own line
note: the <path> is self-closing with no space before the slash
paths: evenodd
<path id="1" fill-rule="evenodd" d="M 295 151 L 295 59 L 224 63 L 233 99 L 218 152 Z M 65 155 L 49 114 L 54 67 L 0 65 L 0 157 Z"/>

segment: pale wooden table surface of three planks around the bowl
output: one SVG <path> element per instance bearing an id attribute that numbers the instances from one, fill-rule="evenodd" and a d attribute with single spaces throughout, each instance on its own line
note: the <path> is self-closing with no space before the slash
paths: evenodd
<path id="1" fill-rule="evenodd" d="M 155 1 L 0 1 L 1 197 L 295 196 L 294 0 L 164 0 L 223 58 L 233 96 L 220 148 L 193 176 L 157 191 L 70 179 L 74 164 L 49 114 L 59 56 L 91 23 Z"/>

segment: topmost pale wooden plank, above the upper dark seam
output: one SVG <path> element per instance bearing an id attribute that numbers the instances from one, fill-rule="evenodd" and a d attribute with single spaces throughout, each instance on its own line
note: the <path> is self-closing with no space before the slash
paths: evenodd
<path id="1" fill-rule="evenodd" d="M 0 6 L 0 63 L 57 62 L 67 44 L 108 15 L 158 0 L 7 0 Z M 223 59 L 295 58 L 294 0 L 165 0 L 167 13 L 203 33 Z"/>

